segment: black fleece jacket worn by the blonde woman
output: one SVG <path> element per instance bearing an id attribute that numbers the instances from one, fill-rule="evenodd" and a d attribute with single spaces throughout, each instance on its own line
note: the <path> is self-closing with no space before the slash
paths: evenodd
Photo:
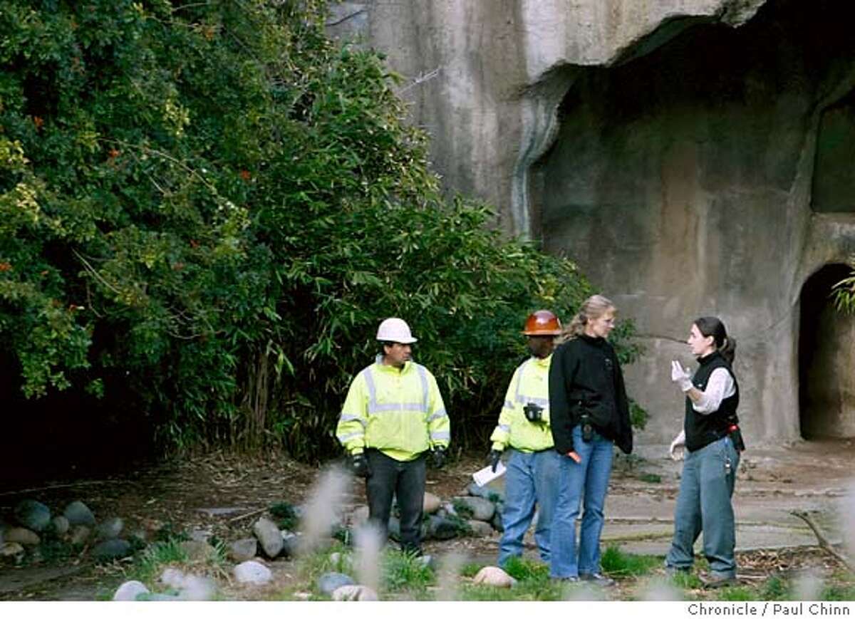
<path id="1" fill-rule="evenodd" d="M 549 416 L 555 449 L 574 451 L 573 427 L 579 422 L 580 403 L 596 403 L 608 421 L 598 433 L 615 441 L 624 453 L 633 451 L 633 428 L 615 349 L 603 338 L 579 335 L 558 346 L 549 369 Z"/>

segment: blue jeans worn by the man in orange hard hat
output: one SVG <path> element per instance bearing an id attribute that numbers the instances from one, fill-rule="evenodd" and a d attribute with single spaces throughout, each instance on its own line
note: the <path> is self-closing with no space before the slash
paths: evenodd
<path id="1" fill-rule="evenodd" d="M 549 562 L 550 529 L 555 509 L 560 456 L 554 449 L 524 453 L 510 450 L 508 472 L 504 486 L 504 512 L 502 512 L 502 541 L 498 545 L 498 564 L 510 557 L 522 556 L 522 538 L 534 518 L 534 504 L 538 505 L 537 528 L 534 539 L 540 549 L 540 558 Z"/>

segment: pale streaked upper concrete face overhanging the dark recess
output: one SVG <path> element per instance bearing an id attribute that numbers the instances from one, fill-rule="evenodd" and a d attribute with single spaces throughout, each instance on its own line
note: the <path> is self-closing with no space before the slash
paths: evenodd
<path id="1" fill-rule="evenodd" d="M 411 0 L 333 4 L 329 32 L 362 38 L 404 76 L 446 186 L 496 204 L 528 235 L 528 168 L 551 144 L 578 68 L 624 62 L 698 21 L 739 25 L 764 0 Z"/>

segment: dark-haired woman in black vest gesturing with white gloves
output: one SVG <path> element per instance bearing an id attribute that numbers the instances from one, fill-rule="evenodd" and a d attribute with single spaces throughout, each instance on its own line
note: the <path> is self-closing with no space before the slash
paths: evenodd
<path id="1" fill-rule="evenodd" d="M 669 573 L 688 571 L 693 545 L 704 532 L 704 554 L 711 575 L 702 577 L 707 587 L 721 587 L 736 579 L 734 493 L 740 451 L 745 449 L 736 408 L 740 389 L 731 363 L 736 342 L 728 338 L 722 321 L 705 316 L 694 321 L 687 344 L 700 367 L 694 376 L 677 361 L 671 362 L 671 380 L 686 394 L 683 430 L 671 442 L 670 455 L 686 458 L 680 494 L 674 512 L 674 539 L 665 557 Z"/>

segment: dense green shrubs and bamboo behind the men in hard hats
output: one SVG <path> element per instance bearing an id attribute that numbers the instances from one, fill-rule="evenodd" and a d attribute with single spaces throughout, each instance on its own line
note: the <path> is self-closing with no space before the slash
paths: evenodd
<path id="1" fill-rule="evenodd" d="M 0 0 L 0 337 L 27 396 L 121 383 L 170 445 L 321 457 L 400 315 L 455 439 L 489 432 L 525 315 L 590 286 L 442 196 L 398 79 L 324 15 Z"/>

